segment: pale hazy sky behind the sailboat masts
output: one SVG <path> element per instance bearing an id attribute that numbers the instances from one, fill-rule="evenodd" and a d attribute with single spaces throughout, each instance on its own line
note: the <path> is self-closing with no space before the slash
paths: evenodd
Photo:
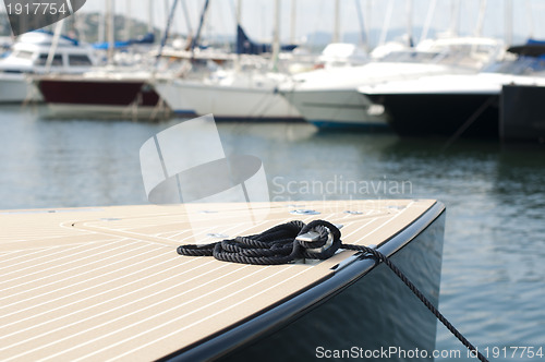
<path id="1" fill-rule="evenodd" d="M 117 13 L 126 13 L 130 8 L 131 14 L 145 22 L 149 19 L 147 0 L 112 0 Z M 208 22 L 205 31 L 211 35 L 234 35 L 235 32 L 235 5 L 239 0 L 210 0 Z M 335 0 L 279 0 L 281 7 L 280 36 L 289 40 L 291 34 L 292 2 L 295 2 L 295 38 L 303 39 L 305 35 L 314 32 L 332 33 L 335 17 Z M 172 4 L 173 0 L 153 0 L 153 19 L 156 26 L 161 27 L 166 23 L 166 5 Z M 199 12 L 204 0 L 180 0 L 185 2 L 192 27 L 198 23 Z M 545 39 L 545 15 L 544 0 L 340 0 L 340 31 L 341 33 L 356 33 L 361 31 L 358 16 L 356 2 L 362 9 L 365 26 L 382 29 L 389 17 L 389 28 L 405 28 L 409 22 L 408 8 L 412 3 L 411 22 L 413 28 L 422 28 L 429 16 L 432 3 L 436 3 L 431 16 L 431 27 L 437 31 L 448 31 L 456 25 L 462 35 L 475 33 L 480 7 L 484 2 L 483 35 L 506 35 L 506 11 L 512 9 L 512 28 L 519 36 Z M 242 25 L 255 39 L 268 40 L 272 37 L 275 0 L 241 0 Z M 509 5 L 510 4 L 510 5 Z M 458 7 L 458 8 L 457 8 Z M 93 12 L 105 9 L 105 0 L 87 0 L 82 11 Z M 458 23 L 456 9 L 459 9 Z M 184 33 L 187 28 L 181 7 L 174 15 L 174 29 Z M 414 39 L 420 38 L 420 33 L 414 32 Z"/>

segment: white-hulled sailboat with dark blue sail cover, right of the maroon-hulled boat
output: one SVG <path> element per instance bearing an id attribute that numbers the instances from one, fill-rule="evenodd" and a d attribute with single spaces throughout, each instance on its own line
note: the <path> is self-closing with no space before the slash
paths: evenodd
<path id="1" fill-rule="evenodd" d="M 240 21 L 238 22 L 240 24 Z M 214 113 L 216 120 L 301 120 L 299 111 L 278 92 L 280 84 L 289 82 L 290 76 L 274 71 L 279 44 L 279 2 L 276 2 L 275 41 L 270 45 L 252 43 L 240 25 L 239 55 L 272 50 L 272 69 L 262 71 L 257 67 L 242 70 L 239 64 L 233 70 L 218 71 L 204 80 L 183 77 L 158 80 L 155 89 L 167 105 L 178 114 Z M 286 46 L 292 49 L 293 46 Z"/>

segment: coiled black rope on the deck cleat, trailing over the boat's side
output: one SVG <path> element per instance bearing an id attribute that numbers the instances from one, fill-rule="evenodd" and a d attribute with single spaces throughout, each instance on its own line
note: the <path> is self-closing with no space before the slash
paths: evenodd
<path id="1" fill-rule="evenodd" d="M 313 234 L 308 234 L 310 232 Z M 187 256 L 214 256 L 219 261 L 232 263 L 279 265 L 302 258 L 327 260 L 339 249 L 362 252 L 364 256 L 386 264 L 463 346 L 480 361 L 488 361 L 386 255 L 373 248 L 344 244 L 340 237 L 340 230 L 325 220 L 314 220 L 308 225 L 290 221 L 255 236 L 237 237 L 204 245 L 181 245 L 178 246 L 178 253 Z"/>

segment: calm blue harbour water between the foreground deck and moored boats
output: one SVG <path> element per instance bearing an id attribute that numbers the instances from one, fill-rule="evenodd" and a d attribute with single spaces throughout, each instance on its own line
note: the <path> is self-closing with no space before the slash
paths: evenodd
<path id="1" fill-rule="evenodd" d="M 39 108 L 0 108 L 0 209 L 146 203 L 138 149 L 180 122 L 41 114 Z M 322 134 L 306 124 L 229 123 L 219 131 L 227 154 L 263 160 L 275 200 L 445 203 L 441 312 L 482 348 L 545 349 L 542 149 L 460 141 L 441 150 L 446 140 Z M 437 348 L 460 345 L 439 326 Z"/>

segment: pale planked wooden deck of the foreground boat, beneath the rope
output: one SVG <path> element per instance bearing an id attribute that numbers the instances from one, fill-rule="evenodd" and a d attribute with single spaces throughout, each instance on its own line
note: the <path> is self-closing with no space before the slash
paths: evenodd
<path id="1" fill-rule="evenodd" d="M 240 222 L 244 204 L 0 212 L 0 360 L 168 355 L 300 293 L 353 254 L 250 266 L 180 256 L 178 245 L 295 219 L 342 224 L 346 243 L 380 244 L 434 203 L 254 204 L 268 214 L 255 225 Z M 303 208 L 320 215 L 290 214 Z"/>

